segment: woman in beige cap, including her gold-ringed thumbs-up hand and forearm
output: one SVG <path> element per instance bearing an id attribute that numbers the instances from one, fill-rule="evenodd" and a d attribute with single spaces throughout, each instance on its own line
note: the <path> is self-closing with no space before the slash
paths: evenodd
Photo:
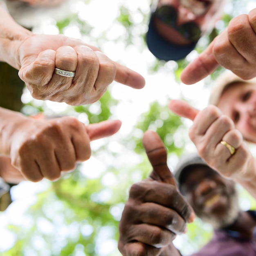
<path id="1" fill-rule="evenodd" d="M 256 78 L 225 72 L 213 85 L 209 103 L 198 111 L 173 100 L 169 108 L 193 120 L 189 136 L 205 162 L 256 197 L 256 161 L 245 142 L 256 143 Z"/>

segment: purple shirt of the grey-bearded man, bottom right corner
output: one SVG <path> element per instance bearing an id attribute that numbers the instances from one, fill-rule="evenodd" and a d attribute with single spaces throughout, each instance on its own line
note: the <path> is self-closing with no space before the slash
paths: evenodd
<path id="1" fill-rule="evenodd" d="M 256 212 L 249 212 L 256 218 Z M 215 230 L 209 243 L 191 256 L 256 256 L 256 230 L 250 240 L 230 229 Z"/>

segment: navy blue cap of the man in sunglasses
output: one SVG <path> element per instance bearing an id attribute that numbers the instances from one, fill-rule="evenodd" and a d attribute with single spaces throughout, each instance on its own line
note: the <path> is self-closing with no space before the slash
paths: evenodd
<path id="1" fill-rule="evenodd" d="M 153 14 L 151 14 L 148 32 L 146 34 L 146 43 L 150 52 L 159 60 L 178 61 L 185 58 L 194 48 L 196 43 L 191 45 L 175 45 L 160 36 L 153 23 Z"/>

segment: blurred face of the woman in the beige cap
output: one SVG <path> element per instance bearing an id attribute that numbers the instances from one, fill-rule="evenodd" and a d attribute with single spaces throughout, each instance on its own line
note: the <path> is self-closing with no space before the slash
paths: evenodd
<path id="1" fill-rule="evenodd" d="M 217 107 L 231 117 L 244 139 L 256 143 L 256 84 L 239 82 L 229 85 Z"/>

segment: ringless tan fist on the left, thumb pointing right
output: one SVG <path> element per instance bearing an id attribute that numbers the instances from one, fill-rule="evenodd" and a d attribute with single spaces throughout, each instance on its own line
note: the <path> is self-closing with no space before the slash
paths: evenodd
<path id="1" fill-rule="evenodd" d="M 85 126 L 74 117 L 27 118 L 11 138 L 11 164 L 27 180 L 56 180 L 90 158 L 90 141 L 113 135 L 120 126 L 118 120 Z"/>

